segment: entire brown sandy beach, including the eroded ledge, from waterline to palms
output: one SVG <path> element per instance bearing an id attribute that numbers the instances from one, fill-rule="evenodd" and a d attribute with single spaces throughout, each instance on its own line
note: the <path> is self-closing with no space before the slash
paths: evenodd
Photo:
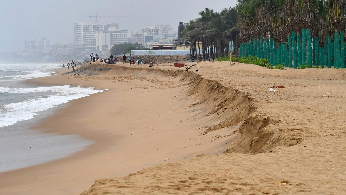
<path id="1" fill-rule="evenodd" d="M 346 191 L 346 70 L 92 63 L 80 75 L 61 73 L 31 81 L 109 90 L 71 101 L 36 129 L 96 143 L 68 158 L 0 173 L 4 194 Z M 269 92 L 275 85 L 288 88 Z"/>

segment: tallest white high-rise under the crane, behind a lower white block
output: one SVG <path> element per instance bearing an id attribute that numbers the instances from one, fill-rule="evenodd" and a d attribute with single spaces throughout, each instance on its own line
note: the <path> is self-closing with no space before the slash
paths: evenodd
<path id="1" fill-rule="evenodd" d="M 74 23 L 73 24 L 73 44 L 75 48 L 86 47 L 86 34 L 96 32 L 115 31 L 119 29 L 118 23 L 98 24 L 95 23 Z"/>

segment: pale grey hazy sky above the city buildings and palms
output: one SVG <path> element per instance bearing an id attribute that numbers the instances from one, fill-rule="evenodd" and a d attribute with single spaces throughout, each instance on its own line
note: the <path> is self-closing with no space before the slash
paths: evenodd
<path id="1" fill-rule="evenodd" d="M 182 22 L 198 18 L 206 7 L 220 11 L 235 6 L 236 0 L 7 0 L 0 1 L 0 52 L 24 48 L 24 40 L 47 37 L 50 44 L 73 41 L 73 23 L 119 23 L 120 29 L 139 31 L 145 25 L 170 24 L 177 31 Z"/>

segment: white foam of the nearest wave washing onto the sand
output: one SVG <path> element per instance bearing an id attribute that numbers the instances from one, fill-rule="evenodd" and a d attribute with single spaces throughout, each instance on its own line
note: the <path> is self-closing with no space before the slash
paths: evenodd
<path id="1" fill-rule="evenodd" d="M 35 88 L 0 87 L 0 93 L 36 93 L 47 91 L 51 91 L 52 95 L 49 97 L 34 98 L 2 105 L 3 110 L 0 113 L 0 127 L 31 119 L 37 115 L 39 111 L 54 108 L 56 105 L 86 97 L 93 93 L 99 93 L 104 90 L 94 90 L 93 87 L 71 87 L 70 85 Z"/>

